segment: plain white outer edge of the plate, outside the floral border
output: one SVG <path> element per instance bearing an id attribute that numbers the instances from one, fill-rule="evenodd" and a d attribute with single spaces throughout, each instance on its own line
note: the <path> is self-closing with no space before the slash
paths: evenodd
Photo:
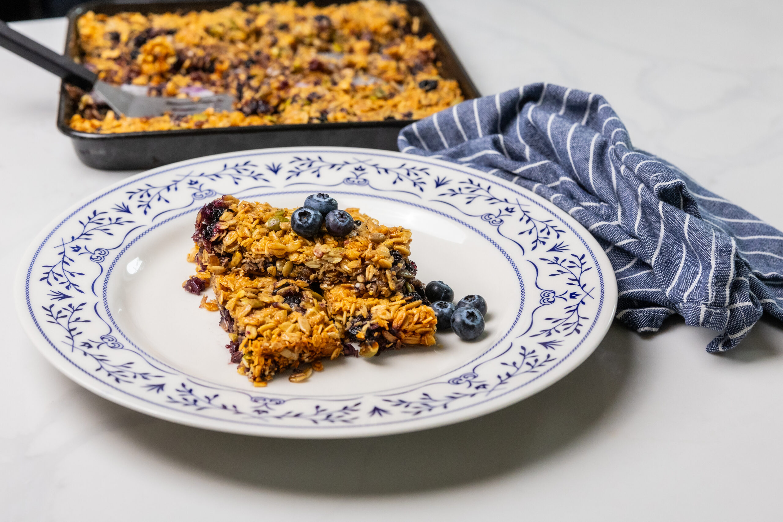
<path id="1" fill-rule="evenodd" d="M 38 331 L 38 327 L 35 326 L 32 319 L 32 312 L 27 305 L 27 299 L 25 296 L 26 280 L 28 268 L 31 266 L 31 261 L 38 249 L 41 247 L 46 239 L 49 239 L 56 229 L 68 219 L 72 218 L 74 214 L 81 211 L 84 207 L 90 203 L 95 202 L 110 193 L 115 192 L 117 189 L 121 189 L 124 185 L 137 182 L 139 179 L 149 177 L 151 175 L 159 175 L 165 171 L 175 170 L 187 164 L 193 164 L 194 162 L 206 162 L 212 160 L 220 160 L 223 158 L 243 157 L 251 154 L 258 153 L 291 153 L 297 151 L 308 150 L 323 151 L 330 153 L 361 153 L 368 155 L 383 154 L 386 157 L 399 157 L 406 160 L 425 160 L 433 164 L 440 165 L 449 169 L 455 169 L 457 171 L 465 171 L 468 174 L 480 175 L 482 178 L 491 178 L 490 181 L 504 186 L 506 189 L 511 189 L 524 193 L 525 196 L 531 200 L 535 200 L 541 207 L 549 209 L 557 214 L 561 220 L 566 221 L 568 225 L 572 226 L 572 229 L 576 229 L 581 232 L 582 239 L 585 241 L 586 247 L 592 251 L 597 262 L 601 265 L 601 271 L 606 275 L 604 277 L 604 305 L 605 311 L 601 311 L 604 322 L 600 320 L 594 325 L 593 333 L 590 333 L 584 338 L 577 347 L 574 347 L 571 353 L 568 355 L 567 370 L 560 375 L 556 375 L 553 379 L 539 381 L 543 384 L 536 384 L 530 382 L 525 386 L 524 391 L 522 388 L 511 389 L 505 391 L 502 394 L 498 394 L 492 401 L 487 401 L 482 408 L 464 408 L 460 410 L 452 410 L 448 416 L 428 416 L 417 419 L 414 423 L 384 423 L 370 426 L 345 426 L 345 427 L 331 427 L 314 430 L 298 430 L 294 427 L 281 427 L 281 426 L 264 426 L 259 424 L 230 422 L 228 419 L 213 419 L 206 416 L 193 416 L 193 414 L 177 411 L 174 409 L 161 409 L 154 403 L 140 399 L 135 395 L 125 394 L 114 389 L 114 387 L 106 386 L 106 383 L 96 379 L 87 379 L 85 377 L 90 376 L 85 373 L 85 370 L 79 368 L 74 362 L 71 362 L 67 358 L 64 358 L 58 354 L 56 350 L 52 350 L 51 344 L 46 338 Z M 340 438 L 357 438 L 357 437 L 375 437 L 391 434 L 408 433 L 419 430 L 427 430 L 435 427 L 442 427 L 453 423 L 460 423 L 468 419 L 474 419 L 479 416 L 484 416 L 491 412 L 496 412 L 500 409 L 506 408 L 518 401 L 529 398 L 532 395 L 538 393 L 550 387 L 552 384 L 561 380 L 563 377 L 571 373 L 579 365 L 581 365 L 586 358 L 588 358 L 597 348 L 601 341 L 606 336 L 609 326 L 612 325 L 616 308 L 617 308 L 617 283 L 614 276 L 614 270 L 610 264 L 608 257 L 604 253 L 603 248 L 597 243 L 587 229 L 576 221 L 566 211 L 563 211 L 560 207 L 557 207 L 554 203 L 551 203 L 543 196 L 532 192 L 529 189 L 521 185 L 508 182 L 503 178 L 494 178 L 488 173 L 464 166 L 462 164 L 455 164 L 450 161 L 440 160 L 434 157 L 417 156 L 413 154 L 400 153 L 397 151 L 381 150 L 381 149 L 364 149 L 359 147 L 335 147 L 335 146 L 294 146 L 294 147 L 277 147 L 269 149 L 247 149 L 242 151 L 235 151 L 231 153 L 213 154 L 204 157 L 191 158 L 189 160 L 182 160 L 173 164 L 163 165 L 161 167 L 155 167 L 146 171 L 141 171 L 135 175 L 122 178 L 117 182 L 114 182 L 103 189 L 97 190 L 95 193 L 91 193 L 76 203 L 67 207 L 65 211 L 57 214 L 55 218 L 52 218 L 41 232 L 38 232 L 31 240 L 31 243 L 24 250 L 23 256 L 20 261 L 20 265 L 16 270 L 16 278 L 14 281 L 14 301 L 16 304 L 17 315 L 20 319 L 22 327 L 27 333 L 27 337 L 31 340 L 32 344 L 38 349 L 41 355 L 51 363 L 56 369 L 67 376 L 70 380 L 74 381 L 81 387 L 85 387 L 88 391 L 99 395 L 99 397 L 112 401 L 118 405 L 124 406 L 128 409 L 142 412 L 146 415 L 153 416 L 158 419 L 168 420 L 169 422 L 180 423 L 190 427 L 197 427 L 207 430 L 216 430 L 226 433 L 245 434 L 259 437 L 284 437 L 284 438 L 297 438 L 297 439 L 340 439 Z M 611 310 L 611 311 L 610 311 Z M 581 348 L 577 350 L 577 348 Z M 565 359 L 563 359 L 565 362 Z M 534 380 L 537 380 L 534 379 Z M 94 381 L 94 382 L 93 382 Z M 514 393 L 516 392 L 516 393 Z M 266 433 L 264 433 L 266 431 Z"/>

